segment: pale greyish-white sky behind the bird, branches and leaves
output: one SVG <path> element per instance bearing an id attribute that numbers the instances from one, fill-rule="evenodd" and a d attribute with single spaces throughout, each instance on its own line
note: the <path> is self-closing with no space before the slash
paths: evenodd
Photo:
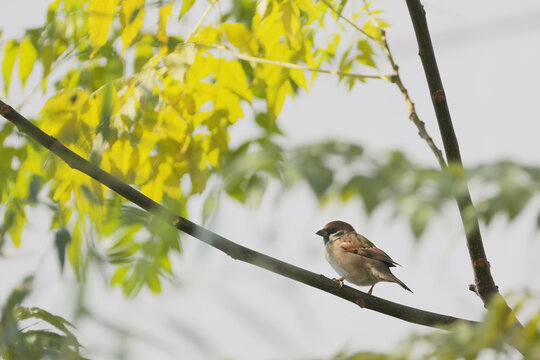
<path id="1" fill-rule="evenodd" d="M 2 3 L 8 3 L 2 0 Z M 2 6 L 3 39 L 41 24 L 47 1 L 9 1 Z M 417 47 L 403 1 L 382 1 L 390 46 L 406 86 L 428 131 L 440 144 Z M 540 3 L 507 1 L 426 1 L 450 111 L 465 164 L 511 159 L 540 166 Z M 14 81 L 16 83 L 16 81 Z M 16 94 L 16 90 L 14 90 Z M 8 102 L 18 103 L 10 95 Z M 37 111 L 40 103 L 28 104 Z M 33 115 L 32 113 L 28 115 Z M 281 126 L 291 144 L 343 138 L 366 145 L 372 154 L 404 150 L 419 162 L 436 165 L 407 119 L 401 95 L 392 86 L 370 82 L 347 93 L 332 77 L 319 79 L 308 96 L 287 101 Z M 233 136 L 245 136 L 239 126 Z M 315 231 L 341 219 L 403 265 L 395 274 L 414 294 L 395 284 L 379 284 L 375 295 L 421 309 L 479 319 L 483 307 L 469 292 L 473 277 L 456 209 L 451 206 L 415 243 L 403 220 L 381 209 L 366 217 L 358 203 L 319 208 L 307 187 L 259 210 L 224 201 L 212 230 L 233 241 L 327 276 Z M 474 189 L 473 189 L 474 197 Z M 199 221 L 194 201 L 192 219 Z M 535 202 L 538 208 L 539 202 Z M 530 289 L 538 295 L 540 239 L 536 213 L 508 224 L 497 219 L 483 237 L 497 284 L 504 294 Z M 53 234 L 39 221 L 24 233 L 22 249 L 8 247 L 0 259 L 0 303 L 25 275 L 42 266 L 28 305 L 72 319 L 76 286 L 71 271 L 59 274 Z M 147 291 L 133 300 L 110 289 L 96 271 L 89 277 L 88 303 L 107 322 L 139 338 L 125 345 L 129 359 L 311 359 L 341 350 L 389 350 L 413 333 L 431 331 L 390 318 L 308 288 L 251 265 L 236 262 L 197 240 L 183 237 L 183 256 L 174 259 L 175 284 L 163 293 Z M 365 290 L 365 289 L 364 289 Z M 79 340 L 94 359 L 116 359 L 119 338 L 96 322 L 78 322 Z"/>

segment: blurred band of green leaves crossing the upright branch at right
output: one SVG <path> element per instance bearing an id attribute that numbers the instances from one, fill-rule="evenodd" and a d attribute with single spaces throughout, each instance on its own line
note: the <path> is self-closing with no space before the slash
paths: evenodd
<path id="1" fill-rule="evenodd" d="M 241 202 L 257 204 L 271 179 L 285 188 L 304 182 L 322 204 L 361 200 L 368 214 L 391 205 L 417 238 L 446 204 L 465 194 L 468 183 L 477 203 L 468 216 L 476 214 L 486 225 L 496 216 L 515 219 L 540 191 L 540 169 L 533 166 L 499 161 L 441 171 L 400 151 L 375 156 L 358 144 L 337 141 L 286 149 L 261 138 L 230 151 L 225 161 L 223 188 Z"/>

